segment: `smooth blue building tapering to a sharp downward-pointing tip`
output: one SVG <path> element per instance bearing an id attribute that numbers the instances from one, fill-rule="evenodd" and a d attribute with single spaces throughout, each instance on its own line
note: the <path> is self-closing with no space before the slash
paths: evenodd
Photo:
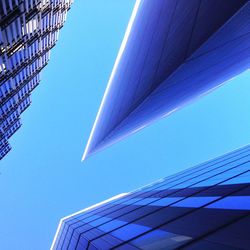
<path id="1" fill-rule="evenodd" d="M 83 159 L 249 67 L 249 0 L 137 0 Z"/>

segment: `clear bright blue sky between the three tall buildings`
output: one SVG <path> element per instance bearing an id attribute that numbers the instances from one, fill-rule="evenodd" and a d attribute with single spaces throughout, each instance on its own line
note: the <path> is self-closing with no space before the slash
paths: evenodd
<path id="1" fill-rule="evenodd" d="M 49 249 L 59 219 L 249 143 L 250 72 L 81 163 L 134 0 L 76 0 L 0 163 L 0 249 Z"/>

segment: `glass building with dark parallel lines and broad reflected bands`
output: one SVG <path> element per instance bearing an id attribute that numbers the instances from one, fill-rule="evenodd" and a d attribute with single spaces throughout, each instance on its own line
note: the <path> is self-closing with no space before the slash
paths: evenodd
<path id="1" fill-rule="evenodd" d="M 51 249 L 250 248 L 250 145 L 60 221 Z"/>

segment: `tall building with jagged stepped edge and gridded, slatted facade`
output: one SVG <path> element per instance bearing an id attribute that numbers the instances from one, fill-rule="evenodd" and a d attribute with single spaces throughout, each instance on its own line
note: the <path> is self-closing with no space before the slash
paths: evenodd
<path id="1" fill-rule="evenodd" d="M 0 1 L 0 159 L 20 128 L 73 0 Z"/>

